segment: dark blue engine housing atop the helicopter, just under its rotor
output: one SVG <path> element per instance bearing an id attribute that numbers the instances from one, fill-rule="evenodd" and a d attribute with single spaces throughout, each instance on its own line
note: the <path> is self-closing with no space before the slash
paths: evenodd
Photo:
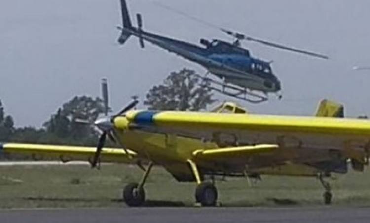
<path id="1" fill-rule="evenodd" d="M 214 39 L 212 42 L 209 42 L 205 39 L 201 39 L 200 43 L 206 46 L 206 48 L 212 54 L 237 54 L 247 57 L 251 56 L 249 50 L 218 39 Z"/>

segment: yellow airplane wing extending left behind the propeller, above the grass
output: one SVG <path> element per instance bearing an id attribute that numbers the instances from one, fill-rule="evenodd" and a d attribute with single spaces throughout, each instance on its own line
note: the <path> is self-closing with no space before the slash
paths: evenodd
<path id="1" fill-rule="evenodd" d="M 102 162 L 135 163 L 137 154 L 131 150 L 103 148 Z M 31 155 L 34 159 L 56 158 L 62 161 L 90 161 L 96 148 L 81 146 L 46 145 L 29 143 L 0 143 L 0 152 Z"/>

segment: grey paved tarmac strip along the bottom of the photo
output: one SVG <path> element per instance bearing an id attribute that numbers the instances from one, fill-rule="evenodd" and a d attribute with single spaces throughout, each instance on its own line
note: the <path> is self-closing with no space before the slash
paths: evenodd
<path id="1" fill-rule="evenodd" d="M 1 223 L 369 223 L 368 207 L 4 210 Z"/>

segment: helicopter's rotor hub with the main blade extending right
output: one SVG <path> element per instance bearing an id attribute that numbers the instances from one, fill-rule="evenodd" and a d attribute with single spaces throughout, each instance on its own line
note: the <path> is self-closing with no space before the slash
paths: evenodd
<path id="1" fill-rule="evenodd" d="M 313 56 L 313 57 L 329 59 L 328 56 L 325 56 L 325 55 L 322 55 L 322 54 L 313 53 L 313 52 L 309 52 L 309 51 L 301 50 L 301 49 L 296 49 L 296 48 L 289 47 L 289 46 L 283 46 L 283 45 L 280 45 L 280 44 L 277 44 L 277 43 L 267 42 L 265 40 L 261 40 L 261 39 L 254 38 L 254 37 L 248 37 L 245 34 L 238 33 L 238 32 L 233 32 L 233 31 L 230 31 L 230 30 L 222 29 L 222 28 L 220 28 L 220 30 L 222 32 L 232 36 L 232 37 L 235 37 L 237 39 L 234 42 L 234 44 L 236 46 L 240 46 L 240 40 L 246 40 L 246 41 L 257 42 L 257 43 L 260 43 L 260 44 L 263 44 L 263 45 L 266 45 L 266 46 L 275 47 L 275 48 L 279 48 L 279 49 L 283 49 L 283 50 L 288 50 L 288 51 L 292 51 L 292 52 L 296 52 L 296 53 L 301 53 L 301 54 L 305 54 L 305 55 L 309 55 L 309 56 Z"/>

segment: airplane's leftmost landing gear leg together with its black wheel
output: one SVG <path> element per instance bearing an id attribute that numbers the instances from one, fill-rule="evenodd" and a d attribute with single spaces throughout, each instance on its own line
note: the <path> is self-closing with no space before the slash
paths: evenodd
<path id="1" fill-rule="evenodd" d="M 144 175 L 139 183 L 129 183 L 123 189 L 123 200 L 128 206 L 140 206 L 145 201 L 144 184 L 147 180 L 150 170 L 153 167 L 153 162 L 150 162 Z"/>

